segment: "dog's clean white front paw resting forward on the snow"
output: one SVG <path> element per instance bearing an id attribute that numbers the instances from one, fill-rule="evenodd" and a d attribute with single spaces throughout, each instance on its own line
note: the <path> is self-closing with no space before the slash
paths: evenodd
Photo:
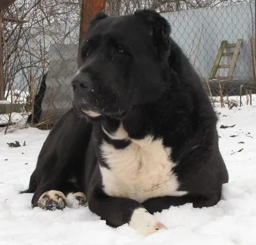
<path id="1" fill-rule="evenodd" d="M 165 225 L 157 221 L 157 219 L 144 208 L 136 209 L 133 212 L 129 226 L 138 230 L 142 235 L 150 235 L 160 229 L 168 230 Z"/>

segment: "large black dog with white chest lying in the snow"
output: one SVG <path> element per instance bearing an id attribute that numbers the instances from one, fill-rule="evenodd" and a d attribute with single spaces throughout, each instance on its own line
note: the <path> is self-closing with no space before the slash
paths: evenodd
<path id="1" fill-rule="evenodd" d="M 217 117 L 168 22 L 98 13 L 80 54 L 74 110 L 52 128 L 26 191 L 33 207 L 63 209 L 74 193 L 108 225 L 148 235 L 166 228 L 156 211 L 217 204 L 228 182 Z"/>

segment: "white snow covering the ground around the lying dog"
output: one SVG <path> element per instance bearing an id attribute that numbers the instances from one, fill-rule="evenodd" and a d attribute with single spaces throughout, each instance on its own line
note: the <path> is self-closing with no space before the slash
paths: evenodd
<path id="1" fill-rule="evenodd" d="M 32 194 L 19 195 L 18 191 L 28 187 L 49 131 L 27 128 L 0 133 L 0 244 L 256 244 L 256 106 L 216 111 L 220 113 L 220 149 L 230 175 L 223 186 L 223 200 L 209 208 L 193 209 L 186 204 L 156 213 L 169 230 L 148 237 L 127 224 L 110 228 L 88 207 L 75 205 L 54 212 L 31 209 Z M 15 140 L 21 147 L 8 147 L 6 143 Z"/>

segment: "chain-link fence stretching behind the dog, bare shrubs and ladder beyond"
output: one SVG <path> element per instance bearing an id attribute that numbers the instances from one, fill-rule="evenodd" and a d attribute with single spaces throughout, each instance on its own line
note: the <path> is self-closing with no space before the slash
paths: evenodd
<path id="1" fill-rule="evenodd" d="M 214 107 L 256 105 L 255 2 L 106 1 L 110 15 L 143 8 L 170 22 Z M 0 131 L 50 129 L 71 107 L 81 0 L 0 0 L 0 10 Z"/>

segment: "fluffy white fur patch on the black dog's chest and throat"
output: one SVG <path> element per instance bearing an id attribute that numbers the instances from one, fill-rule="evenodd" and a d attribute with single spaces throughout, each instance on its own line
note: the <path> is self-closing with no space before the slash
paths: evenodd
<path id="1" fill-rule="evenodd" d="M 104 130 L 105 131 L 105 130 Z M 113 139 L 129 138 L 120 126 L 115 134 L 105 133 Z M 116 149 L 108 142 L 101 145 L 101 154 L 109 166 L 100 166 L 104 191 L 111 197 L 127 197 L 144 202 L 152 197 L 182 196 L 186 191 L 177 191 L 179 182 L 170 160 L 172 149 L 164 147 L 163 140 L 147 136 L 131 140 L 124 149 Z"/>

